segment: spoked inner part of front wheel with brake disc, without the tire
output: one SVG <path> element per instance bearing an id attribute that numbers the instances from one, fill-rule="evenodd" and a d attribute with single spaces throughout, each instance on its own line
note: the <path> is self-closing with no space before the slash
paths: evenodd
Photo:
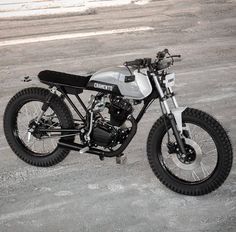
<path id="1" fill-rule="evenodd" d="M 185 123 L 190 135 L 184 139 L 186 155 L 181 154 L 169 129 L 162 140 L 162 165 L 176 178 L 196 183 L 208 178 L 217 165 L 216 145 L 211 136 L 201 127 Z M 172 149 L 172 152 L 170 150 Z"/>

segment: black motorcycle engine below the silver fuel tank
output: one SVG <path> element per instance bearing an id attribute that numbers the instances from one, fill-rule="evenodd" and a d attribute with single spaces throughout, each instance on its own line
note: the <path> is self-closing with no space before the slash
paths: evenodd
<path id="1" fill-rule="evenodd" d="M 96 99 L 97 98 L 97 99 Z M 91 132 L 91 142 L 94 146 L 112 148 L 123 143 L 130 132 L 125 126 L 127 117 L 133 112 L 129 100 L 114 96 L 96 96 L 93 106 L 94 124 Z M 105 109 L 108 117 L 105 117 Z"/>

